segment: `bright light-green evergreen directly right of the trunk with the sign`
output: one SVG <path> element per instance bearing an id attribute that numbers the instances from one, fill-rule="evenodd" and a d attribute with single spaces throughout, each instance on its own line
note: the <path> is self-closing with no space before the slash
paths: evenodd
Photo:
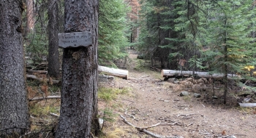
<path id="1" fill-rule="evenodd" d="M 114 65 L 114 60 L 125 57 L 127 12 L 127 4 L 123 0 L 99 2 L 100 65 Z"/>

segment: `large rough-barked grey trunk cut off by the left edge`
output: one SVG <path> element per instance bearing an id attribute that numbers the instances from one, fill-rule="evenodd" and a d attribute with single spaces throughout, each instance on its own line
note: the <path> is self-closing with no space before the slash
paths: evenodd
<path id="1" fill-rule="evenodd" d="M 22 0 L 0 3 L 0 137 L 17 137 L 29 129 L 22 12 Z"/>

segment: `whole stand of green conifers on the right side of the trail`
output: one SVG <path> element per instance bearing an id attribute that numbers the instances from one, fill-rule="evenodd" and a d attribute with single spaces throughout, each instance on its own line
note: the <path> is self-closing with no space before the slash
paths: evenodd
<path id="1" fill-rule="evenodd" d="M 225 103 L 228 73 L 253 79 L 255 2 L 143 0 L 141 5 L 140 50 L 148 57 L 159 56 L 170 69 L 224 73 Z"/>

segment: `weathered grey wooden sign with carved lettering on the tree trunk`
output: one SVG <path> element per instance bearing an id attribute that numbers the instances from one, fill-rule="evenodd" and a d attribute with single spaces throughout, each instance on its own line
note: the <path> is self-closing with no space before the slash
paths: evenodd
<path id="1" fill-rule="evenodd" d="M 59 47 L 86 47 L 91 46 L 92 38 L 91 32 L 72 32 L 72 33 L 59 33 Z"/>

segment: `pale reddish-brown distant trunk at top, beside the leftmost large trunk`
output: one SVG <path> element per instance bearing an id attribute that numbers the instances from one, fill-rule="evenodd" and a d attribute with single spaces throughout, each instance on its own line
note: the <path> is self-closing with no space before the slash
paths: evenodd
<path id="1" fill-rule="evenodd" d="M 34 31 L 34 1 L 26 0 L 26 34 Z"/>

